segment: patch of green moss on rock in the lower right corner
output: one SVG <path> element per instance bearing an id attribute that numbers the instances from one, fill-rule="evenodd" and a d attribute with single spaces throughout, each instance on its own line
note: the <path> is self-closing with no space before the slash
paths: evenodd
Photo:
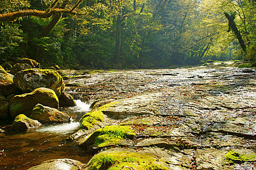
<path id="1" fill-rule="evenodd" d="M 256 153 L 254 154 L 240 154 L 233 151 L 230 151 L 224 156 L 229 163 L 239 163 L 246 161 L 254 161 L 256 158 Z"/>

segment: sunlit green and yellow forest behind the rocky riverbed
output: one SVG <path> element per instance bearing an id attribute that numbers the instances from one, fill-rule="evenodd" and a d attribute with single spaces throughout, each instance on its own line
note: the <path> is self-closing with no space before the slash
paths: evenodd
<path id="1" fill-rule="evenodd" d="M 0 59 L 43 67 L 256 64 L 256 0 L 1 0 Z"/>

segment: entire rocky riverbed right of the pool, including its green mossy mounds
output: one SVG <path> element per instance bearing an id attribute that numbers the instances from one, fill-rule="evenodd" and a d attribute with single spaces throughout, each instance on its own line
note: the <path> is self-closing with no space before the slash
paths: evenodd
<path id="1" fill-rule="evenodd" d="M 78 115 L 79 130 L 62 141 L 94 156 L 86 162 L 81 152 L 68 154 L 59 158 L 81 162 L 42 166 L 57 161 L 77 170 L 256 169 L 255 69 L 63 72 L 72 76 L 64 81 L 65 93 L 93 108 Z"/>

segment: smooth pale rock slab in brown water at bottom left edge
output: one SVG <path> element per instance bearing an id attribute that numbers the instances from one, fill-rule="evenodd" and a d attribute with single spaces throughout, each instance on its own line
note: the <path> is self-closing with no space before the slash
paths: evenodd
<path id="1" fill-rule="evenodd" d="M 83 163 L 73 159 L 51 159 L 28 170 L 80 170 Z"/>

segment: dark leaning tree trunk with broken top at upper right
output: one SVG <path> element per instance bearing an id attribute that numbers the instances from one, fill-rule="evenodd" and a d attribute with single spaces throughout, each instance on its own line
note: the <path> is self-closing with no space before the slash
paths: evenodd
<path id="1" fill-rule="evenodd" d="M 235 13 L 233 13 L 233 14 L 231 14 L 231 15 L 229 15 L 228 13 L 224 13 L 224 14 L 225 14 L 225 17 L 226 17 L 226 18 L 228 19 L 228 21 L 229 21 L 229 29 L 228 29 L 228 32 L 229 32 L 230 30 L 232 30 L 232 31 L 235 33 L 235 36 L 236 36 L 236 38 L 237 38 L 237 40 L 238 40 L 238 42 L 239 42 L 239 44 L 240 44 L 242 50 L 246 53 L 246 45 L 245 45 L 245 43 L 244 43 L 244 40 L 243 40 L 243 38 L 242 38 L 241 33 L 238 31 L 238 29 L 236 28 L 236 25 L 235 25 L 235 21 L 234 21 L 234 19 L 235 19 Z"/>

